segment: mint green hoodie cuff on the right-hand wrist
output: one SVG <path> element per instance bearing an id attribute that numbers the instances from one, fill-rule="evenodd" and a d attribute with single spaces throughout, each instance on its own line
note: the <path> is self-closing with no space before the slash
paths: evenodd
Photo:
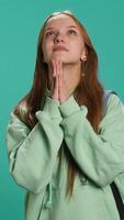
<path id="1" fill-rule="evenodd" d="M 71 96 L 67 101 L 61 103 L 59 107 L 60 113 L 63 118 L 67 118 L 76 111 L 80 111 L 80 107 L 75 100 L 74 96 Z"/>

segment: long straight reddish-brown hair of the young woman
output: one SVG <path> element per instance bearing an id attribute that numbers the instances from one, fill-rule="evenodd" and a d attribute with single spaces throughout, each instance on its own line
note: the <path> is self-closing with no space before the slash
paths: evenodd
<path id="1" fill-rule="evenodd" d="M 99 123 L 102 116 L 102 97 L 103 88 L 98 79 L 98 56 L 93 48 L 93 45 L 89 38 L 89 35 L 82 24 L 77 20 L 77 18 L 70 11 L 55 12 L 50 14 L 40 32 L 38 43 L 37 43 L 37 56 L 34 72 L 33 86 L 30 92 L 19 102 L 14 109 L 14 114 L 27 124 L 31 129 L 36 124 L 37 120 L 35 118 L 35 112 L 41 109 L 41 102 L 44 98 L 46 88 L 48 87 L 48 66 L 43 61 L 42 42 L 44 36 L 44 29 L 47 21 L 59 14 L 66 14 L 74 19 L 80 29 L 82 38 L 87 51 L 87 61 L 82 64 L 82 72 L 84 73 L 84 78 L 80 79 L 77 87 L 76 100 L 79 106 L 84 105 L 88 108 L 87 119 L 92 125 L 95 133 L 99 133 Z M 25 113 L 22 113 L 22 109 L 26 109 Z M 61 151 L 63 148 L 63 151 Z M 61 152 L 66 156 L 68 163 L 68 177 L 67 177 L 67 195 L 72 194 L 74 182 L 76 174 L 79 173 L 79 167 L 77 166 L 75 160 L 64 142 L 63 147 L 59 151 L 59 160 L 61 158 Z"/>

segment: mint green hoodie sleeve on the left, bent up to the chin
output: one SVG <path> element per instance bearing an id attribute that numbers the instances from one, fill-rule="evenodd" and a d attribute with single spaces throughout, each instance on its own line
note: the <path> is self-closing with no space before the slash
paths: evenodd
<path id="1" fill-rule="evenodd" d="M 8 125 L 10 173 L 20 186 L 34 194 L 49 183 L 63 141 L 58 105 L 46 97 L 44 109 L 35 114 L 38 122 L 32 131 L 13 113 Z"/>

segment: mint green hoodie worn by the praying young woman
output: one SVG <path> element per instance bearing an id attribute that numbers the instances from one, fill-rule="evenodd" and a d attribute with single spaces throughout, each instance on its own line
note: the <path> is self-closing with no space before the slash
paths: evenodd
<path id="1" fill-rule="evenodd" d="M 25 112 L 22 107 L 22 114 Z M 87 107 L 71 96 L 66 102 L 45 98 L 32 131 L 13 113 L 7 141 L 10 173 L 27 190 L 26 220 L 120 220 L 110 184 L 124 198 L 124 106 L 111 95 L 97 134 L 87 120 Z M 66 197 L 67 161 L 58 160 L 65 139 L 80 167 L 74 193 Z"/>

